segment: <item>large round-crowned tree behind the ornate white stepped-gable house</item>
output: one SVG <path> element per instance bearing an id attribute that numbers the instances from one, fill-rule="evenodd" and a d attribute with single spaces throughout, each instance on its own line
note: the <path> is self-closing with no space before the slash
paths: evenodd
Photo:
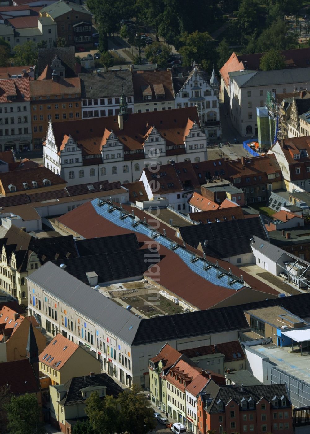
<path id="1" fill-rule="evenodd" d="M 202 63 L 209 56 L 209 42 L 211 36 L 208 32 L 199 33 L 197 30 L 191 34 L 187 32 L 180 36 L 181 47 L 179 52 L 182 56 L 184 65 L 190 65 L 193 61 Z"/>

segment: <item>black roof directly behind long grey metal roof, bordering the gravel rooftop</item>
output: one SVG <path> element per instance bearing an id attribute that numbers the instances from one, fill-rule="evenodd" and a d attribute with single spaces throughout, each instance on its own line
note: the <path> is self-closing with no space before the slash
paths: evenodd
<path id="1" fill-rule="evenodd" d="M 159 256 L 152 262 L 158 262 Z M 65 264 L 65 270 L 81 282 L 89 285 L 86 273 L 95 272 L 98 283 L 123 281 L 133 277 L 140 278 L 148 270 L 149 264 L 145 262 L 145 250 L 116 251 L 99 255 L 83 256 L 79 258 L 61 259 L 52 261 L 55 265 Z"/>

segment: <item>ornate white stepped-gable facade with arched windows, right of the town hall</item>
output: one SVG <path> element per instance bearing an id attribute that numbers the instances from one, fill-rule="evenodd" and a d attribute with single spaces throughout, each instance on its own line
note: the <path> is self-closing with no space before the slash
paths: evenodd
<path id="1" fill-rule="evenodd" d="M 196 105 L 200 125 L 203 126 L 208 138 L 220 138 L 220 104 L 219 87 L 213 70 L 210 82 L 203 77 L 203 72 L 194 67 L 183 87 L 175 97 L 176 109 Z M 213 79 L 213 80 L 212 80 Z"/>

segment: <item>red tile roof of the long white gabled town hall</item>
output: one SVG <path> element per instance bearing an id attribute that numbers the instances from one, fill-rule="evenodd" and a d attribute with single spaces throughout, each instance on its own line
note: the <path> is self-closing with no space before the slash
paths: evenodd
<path id="1" fill-rule="evenodd" d="M 34 82 L 38 83 L 38 81 Z M 43 81 L 40 81 L 43 84 Z M 184 147 L 185 136 L 190 132 L 193 122 L 199 122 L 196 107 L 187 109 L 164 110 L 158 112 L 145 112 L 129 114 L 127 121 L 120 130 L 117 116 L 105 118 L 85 119 L 83 129 L 81 121 L 56 122 L 53 124 L 58 151 L 63 143 L 64 135 L 71 135 L 77 144 L 82 147 L 83 155 L 98 155 L 107 137 L 113 131 L 124 145 L 124 151 L 140 149 L 143 151 L 144 141 L 153 125 L 166 140 L 166 145 L 182 145 Z M 173 149 L 175 154 L 176 149 Z M 185 148 L 181 149 L 185 154 Z M 169 154 L 169 150 L 167 151 Z M 144 158 L 144 153 L 135 154 L 135 158 Z M 132 158 L 132 155 L 129 155 Z M 125 155 L 126 159 L 126 155 Z"/>

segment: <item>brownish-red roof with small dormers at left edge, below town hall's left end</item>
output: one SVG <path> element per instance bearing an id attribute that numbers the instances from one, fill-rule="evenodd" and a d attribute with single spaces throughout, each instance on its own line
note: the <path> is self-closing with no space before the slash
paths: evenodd
<path id="1" fill-rule="evenodd" d="M 0 182 L 3 186 L 5 193 L 9 194 L 9 185 L 14 185 L 16 191 L 22 191 L 29 194 L 29 191 L 36 190 L 37 188 L 45 187 L 43 180 L 48 179 L 50 185 L 64 185 L 67 181 L 60 178 L 59 175 L 53 173 L 44 166 L 38 166 L 31 169 L 24 169 L 12 172 L 0 173 Z M 37 187 L 33 186 L 33 181 L 37 182 Z M 23 183 L 28 184 L 28 189 L 25 189 Z"/>

